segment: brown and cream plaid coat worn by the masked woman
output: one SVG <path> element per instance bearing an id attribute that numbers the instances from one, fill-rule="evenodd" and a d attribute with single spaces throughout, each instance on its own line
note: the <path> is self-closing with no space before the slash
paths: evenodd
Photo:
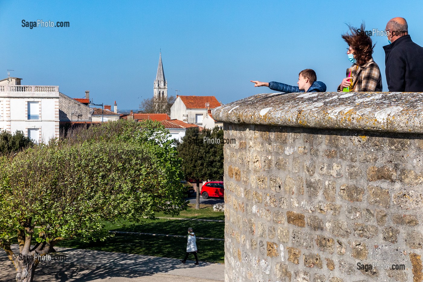
<path id="1" fill-rule="evenodd" d="M 354 92 L 382 92 L 382 77 L 380 75 L 379 66 L 370 59 L 363 66 L 358 66 L 354 63 L 350 68 L 346 69 L 346 77 L 349 76 L 351 71 Z M 341 85 L 338 90 L 342 91 Z"/>

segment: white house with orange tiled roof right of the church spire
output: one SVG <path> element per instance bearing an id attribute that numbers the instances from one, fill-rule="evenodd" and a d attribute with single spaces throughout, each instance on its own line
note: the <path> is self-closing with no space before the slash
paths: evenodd
<path id="1" fill-rule="evenodd" d="M 223 126 L 223 123 L 217 123 L 209 115 L 212 109 L 221 105 L 214 96 L 176 95 L 175 103 L 170 108 L 170 118 L 194 123 L 209 129 L 214 126 Z"/>

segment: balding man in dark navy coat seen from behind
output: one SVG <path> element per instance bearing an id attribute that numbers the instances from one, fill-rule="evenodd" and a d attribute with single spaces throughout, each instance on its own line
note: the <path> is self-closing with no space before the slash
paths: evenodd
<path id="1" fill-rule="evenodd" d="M 386 25 L 385 74 L 392 92 L 423 92 L 423 48 L 408 34 L 407 21 L 393 18 Z"/>

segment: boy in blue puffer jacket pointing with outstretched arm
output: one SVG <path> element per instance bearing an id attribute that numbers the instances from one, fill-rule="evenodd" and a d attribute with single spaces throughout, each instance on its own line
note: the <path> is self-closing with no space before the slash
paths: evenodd
<path id="1" fill-rule="evenodd" d="M 253 81 L 254 87 L 259 86 L 267 86 L 272 90 L 285 92 L 285 93 L 292 93 L 292 92 L 325 92 L 326 85 L 321 81 L 316 81 L 316 72 L 313 71 L 311 68 L 307 68 L 302 70 L 298 74 L 298 86 L 292 86 L 281 82 L 260 82 L 260 81 Z"/>

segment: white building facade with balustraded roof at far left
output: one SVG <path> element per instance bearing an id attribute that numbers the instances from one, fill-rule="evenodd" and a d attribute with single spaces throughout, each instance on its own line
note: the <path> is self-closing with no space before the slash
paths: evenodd
<path id="1" fill-rule="evenodd" d="M 0 130 L 44 143 L 59 137 L 59 87 L 0 85 Z"/>

